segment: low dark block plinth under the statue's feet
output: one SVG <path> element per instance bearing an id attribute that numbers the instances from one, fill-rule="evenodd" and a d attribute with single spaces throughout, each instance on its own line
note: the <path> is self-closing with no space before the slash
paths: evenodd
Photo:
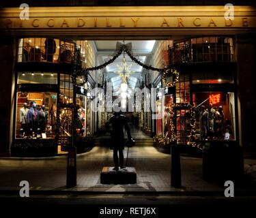
<path id="1" fill-rule="evenodd" d="M 113 167 L 104 166 L 100 173 L 101 184 L 135 184 L 137 183 L 137 172 L 135 168 L 124 168 L 119 171 Z"/>

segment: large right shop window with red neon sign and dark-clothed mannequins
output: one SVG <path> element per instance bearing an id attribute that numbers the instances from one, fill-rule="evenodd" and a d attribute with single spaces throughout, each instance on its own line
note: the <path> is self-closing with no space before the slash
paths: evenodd
<path id="1" fill-rule="evenodd" d="M 193 93 L 199 140 L 236 140 L 234 93 Z"/>

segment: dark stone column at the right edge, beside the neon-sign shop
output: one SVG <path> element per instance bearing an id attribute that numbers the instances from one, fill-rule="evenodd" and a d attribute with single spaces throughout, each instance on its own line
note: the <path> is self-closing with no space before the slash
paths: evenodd
<path id="1" fill-rule="evenodd" d="M 245 151 L 256 151 L 255 36 L 237 35 L 238 128 Z"/>

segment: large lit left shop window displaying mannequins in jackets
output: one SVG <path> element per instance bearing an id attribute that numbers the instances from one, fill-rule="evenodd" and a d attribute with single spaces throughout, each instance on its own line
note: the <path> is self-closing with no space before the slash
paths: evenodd
<path id="1" fill-rule="evenodd" d="M 16 138 L 55 138 L 56 102 L 56 93 L 18 92 Z"/>

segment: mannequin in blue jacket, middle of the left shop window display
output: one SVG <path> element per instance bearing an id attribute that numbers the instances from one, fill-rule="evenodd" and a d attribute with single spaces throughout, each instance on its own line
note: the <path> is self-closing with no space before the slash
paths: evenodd
<path id="1" fill-rule="evenodd" d="M 30 102 L 29 110 L 27 112 L 27 123 L 29 128 L 29 135 L 34 137 L 38 131 L 38 110 L 36 109 L 36 103 Z"/>

